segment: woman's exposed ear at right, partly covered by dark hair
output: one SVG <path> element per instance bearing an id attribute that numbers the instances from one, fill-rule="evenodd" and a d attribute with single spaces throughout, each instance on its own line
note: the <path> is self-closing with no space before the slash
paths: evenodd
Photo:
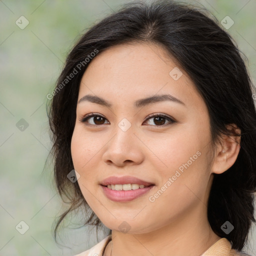
<path id="1" fill-rule="evenodd" d="M 233 130 L 234 133 L 241 134 L 241 130 L 233 123 L 228 124 L 226 127 L 229 130 Z M 221 142 L 216 147 L 211 172 L 223 173 L 234 164 L 240 150 L 240 141 L 240 135 L 221 136 Z"/>

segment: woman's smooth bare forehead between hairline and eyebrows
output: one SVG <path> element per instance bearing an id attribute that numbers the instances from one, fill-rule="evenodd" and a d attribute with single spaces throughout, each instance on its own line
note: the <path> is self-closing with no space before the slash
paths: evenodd
<path id="1" fill-rule="evenodd" d="M 165 93 L 183 102 L 203 103 L 179 63 L 153 43 L 116 45 L 96 55 L 82 76 L 78 100 L 88 93 L 114 98 L 118 105 Z"/>

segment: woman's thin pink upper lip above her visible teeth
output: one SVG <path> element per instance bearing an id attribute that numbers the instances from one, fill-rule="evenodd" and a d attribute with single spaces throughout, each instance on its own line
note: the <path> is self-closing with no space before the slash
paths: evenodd
<path id="1" fill-rule="evenodd" d="M 105 179 L 103 179 L 100 182 L 101 185 L 106 186 L 108 184 L 139 184 L 139 185 L 145 185 L 145 186 L 149 186 L 152 185 L 152 182 L 147 182 L 145 180 L 133 177 L 133 176 L 110 176 L 107 177 Z"/>

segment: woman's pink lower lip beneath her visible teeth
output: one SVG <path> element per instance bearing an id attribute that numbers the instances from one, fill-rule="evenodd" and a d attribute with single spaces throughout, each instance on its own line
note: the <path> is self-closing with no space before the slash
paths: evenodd
<path id="1" fill-rule="evenodd" d="M 154 185 L 150 185 L 148 187 L 131 189 L 131 190 L 112 190 L 112 189 L 109 189 L 107 186 L 101 185 L 105 196 L 108 199 L 116 202 L 131 201 L 141 196 L 142 194 L 148 192 L 153 186 Z"/>

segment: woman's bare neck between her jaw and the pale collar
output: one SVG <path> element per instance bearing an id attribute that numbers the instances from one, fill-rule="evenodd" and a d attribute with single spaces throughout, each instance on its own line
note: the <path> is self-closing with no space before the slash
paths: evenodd
<path id="1" fill-rule="evenodd" d="M 107 244 L 104 256 L 199 256 L 220 239 L 212 231 L 206 216 L 200 208 L 148 233 L 112 230 L 112 240 Z"/>

